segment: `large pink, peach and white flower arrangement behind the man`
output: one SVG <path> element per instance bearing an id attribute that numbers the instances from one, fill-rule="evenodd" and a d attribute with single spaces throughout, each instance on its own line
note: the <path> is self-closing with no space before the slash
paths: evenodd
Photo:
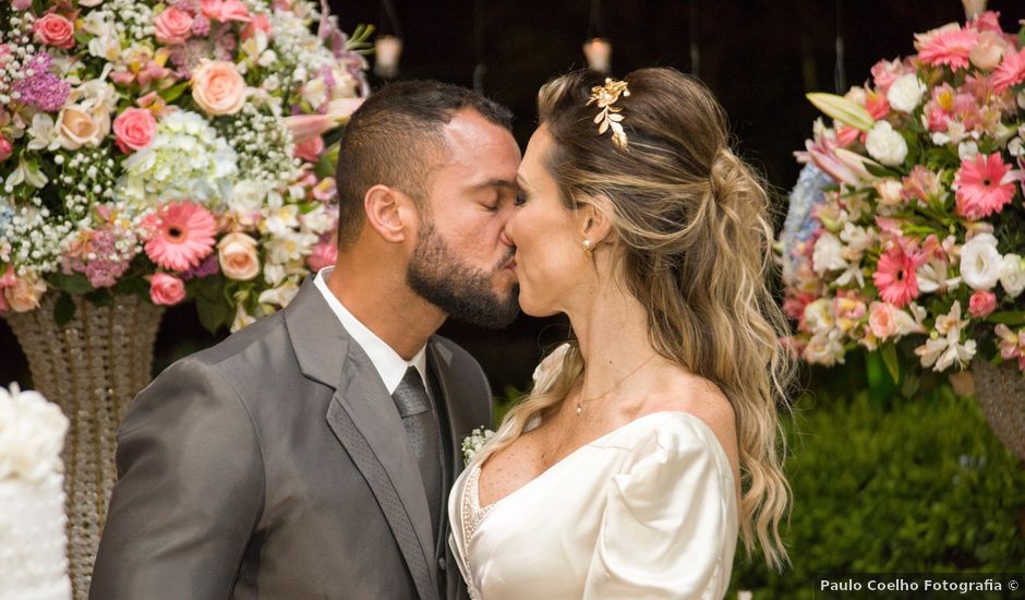
<path id="1" fill-rule="evenodd" d="M 0 313 L 133 293 L 237 328 L 334 260 L 323 158 L 370 28 L 316 0 L 0 2 Z"/>

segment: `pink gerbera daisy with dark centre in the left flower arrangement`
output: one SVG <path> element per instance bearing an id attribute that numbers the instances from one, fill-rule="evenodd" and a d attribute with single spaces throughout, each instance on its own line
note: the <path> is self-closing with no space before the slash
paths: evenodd
<path id="1" fill-rule="evenodd" d="M 146 255 L 170 271 L 186 271 L 200 264 L 214 249 L 217 225 L 209 211 L 195 202 L 172 202 L 148 215 Z"/>

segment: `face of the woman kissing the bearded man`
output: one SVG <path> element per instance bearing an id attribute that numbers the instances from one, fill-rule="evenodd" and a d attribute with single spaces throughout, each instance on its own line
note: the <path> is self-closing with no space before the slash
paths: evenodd
<path id="1" fill-rule="evenodd" d="M 520 163 L 516 209 L 506 224 L 506 236 L 516 247 L 520 308 L 533 316 L 566 312 L 568 303 L 584 292 L 592 272 L 579 217 L 563 205 L 545 166 L 552 149 L 552 136 L 542 124 Z"/>

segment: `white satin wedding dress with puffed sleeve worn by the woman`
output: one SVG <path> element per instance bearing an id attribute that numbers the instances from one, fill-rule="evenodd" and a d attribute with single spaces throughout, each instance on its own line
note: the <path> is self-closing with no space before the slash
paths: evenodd
<path id="1" fill-rule="evenodd" d="M 480 465 L 449 496 L 449 543 L 470 596 L 720 599 L 737 541 L 733 470 L 711 429 L 640 417 L 481 508 Z"/>

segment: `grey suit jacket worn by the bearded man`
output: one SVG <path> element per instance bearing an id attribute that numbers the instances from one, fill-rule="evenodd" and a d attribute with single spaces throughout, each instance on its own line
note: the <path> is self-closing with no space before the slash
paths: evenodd
<path id="1" fill-rule="evenodd" d="M 453 432 L 491 422 L 480 365 L 435 336 Z M 312 280 L 132 404 L 91 600 L 466 598 L 395 404 Z M 447 518 L 445 519 L 447 521 Z M 447 529 L 446 529 L 447 531 Z M 446 533 L 447 536 L 447 533 Z"/>

